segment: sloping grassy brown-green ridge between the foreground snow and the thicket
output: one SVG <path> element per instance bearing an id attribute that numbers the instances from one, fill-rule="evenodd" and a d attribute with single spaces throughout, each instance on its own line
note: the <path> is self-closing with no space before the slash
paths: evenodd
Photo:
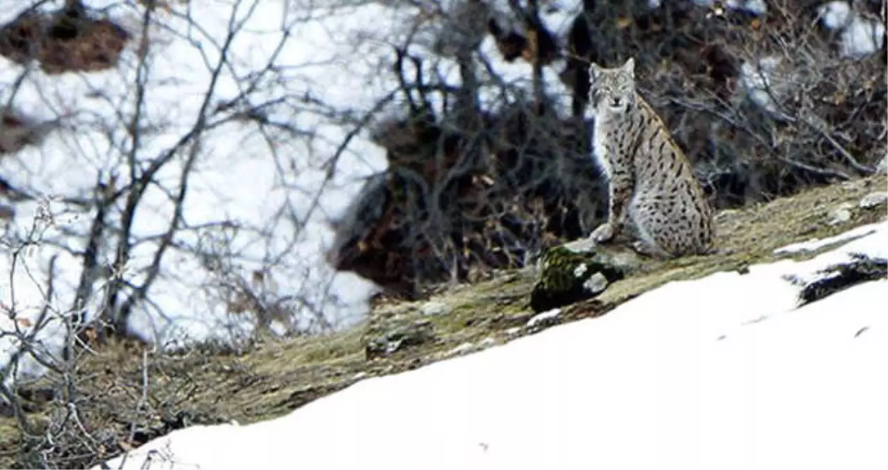
<path id="1" fill-rule="evenodd" d="M 85 358 L 79 371 L 83 380 L 72 401 L 83 422 L 101 429 L 97 435 L 106 439 L 96 458 L 110 458 L 184 426 L 276 418 L 362 378 L 416 369 L 559 323 L 607 315 L 663 283 L 721 271 L 742 273 L 750 265 L 778 259 L 810 258 L 831 246 L 801 253 L 774 251 L 888 219 L 888 203 L 868 204 L 882 192 L 888 192 L 888 175 L 721 211 L 722 254 L 648 262 L 599 298 L 542 315 L 528 306 L 535 272 L 525 268 L 499 271 L 479 283 L 444 286 L 428 299 L 381 301 L 366 321 L 346 331 L 262 339 L 249 351 L 202 347 L 160 354 L 135 343 L 114 343 Z M 46 380 L 21 386 L 34 422 L 51 421 L 59 412 L 51 391 Z M 17 467 L 21 442 L 14 418 L 0 418 L 0 466 Z"/>

